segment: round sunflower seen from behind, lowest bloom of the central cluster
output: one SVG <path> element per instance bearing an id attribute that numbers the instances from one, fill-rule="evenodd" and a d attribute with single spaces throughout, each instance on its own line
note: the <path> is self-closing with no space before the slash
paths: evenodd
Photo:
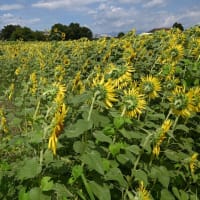
<path id="1" fill-rule="evenodd" d="M 144 95 L 138 92 L 137 88 L 124 91 L 122 99 L 122 115 L 137 117 L 145 109 L 146 101 Z"/>

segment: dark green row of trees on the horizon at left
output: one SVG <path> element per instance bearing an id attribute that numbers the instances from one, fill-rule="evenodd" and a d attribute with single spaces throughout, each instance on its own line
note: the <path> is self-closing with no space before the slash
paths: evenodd
<path id="1" fill-rule="evenodd" d="M 54 24 L 50 31 L 33 31 L 29 27 L 20 25 L 6 25 L 0 31 L 0 40 L 8 41 L 52 41 L 52 40 L 75 40 L 82 37 L 92 39 L 93 33 L 87 27 L 82 27 L 79 23 L 69 25 Z"/>

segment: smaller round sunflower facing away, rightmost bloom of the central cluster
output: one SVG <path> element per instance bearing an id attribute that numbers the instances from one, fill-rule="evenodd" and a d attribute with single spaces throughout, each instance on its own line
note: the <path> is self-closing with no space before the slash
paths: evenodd
<path id="1" fill-rule="evenodd" d="M 152 75 L 142 77 L 140 89 L 150 99 L 155 99 L 158 96 L 158 92 L 161 90 L 160 81 Z"/>

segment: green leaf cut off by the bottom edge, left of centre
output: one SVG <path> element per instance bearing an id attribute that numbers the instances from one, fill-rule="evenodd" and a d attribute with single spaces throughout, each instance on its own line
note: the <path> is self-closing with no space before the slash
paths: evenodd
<path id="1" fill-rule="evenodd" d="M 108 189 L 108 186 L 101 186 L 94 181 L 90 181 L 89 184 L 92 192 L 99 200 L 111 200 L 110 190 Z"/>

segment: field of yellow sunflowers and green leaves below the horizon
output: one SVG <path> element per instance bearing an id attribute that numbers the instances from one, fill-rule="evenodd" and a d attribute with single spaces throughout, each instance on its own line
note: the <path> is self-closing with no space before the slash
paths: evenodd
<path id="1" fill-rule="evenodd" d="M 0 44 L 0 199 L 200 199 L 199 26 Z"/>

